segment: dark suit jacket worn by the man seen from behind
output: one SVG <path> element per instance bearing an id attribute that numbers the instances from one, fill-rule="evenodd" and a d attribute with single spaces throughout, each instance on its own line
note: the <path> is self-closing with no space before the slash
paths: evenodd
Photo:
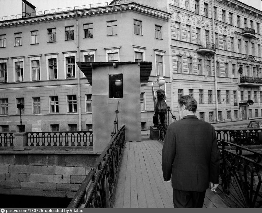
<path id="1" fill-rule="evenodd" d="M 164 180 L 182 191 L 206 191 L 210 182 L 218 184 L 219 151 L 214 127 L 187 115 L 171 123 L 162 149 Z"/>

